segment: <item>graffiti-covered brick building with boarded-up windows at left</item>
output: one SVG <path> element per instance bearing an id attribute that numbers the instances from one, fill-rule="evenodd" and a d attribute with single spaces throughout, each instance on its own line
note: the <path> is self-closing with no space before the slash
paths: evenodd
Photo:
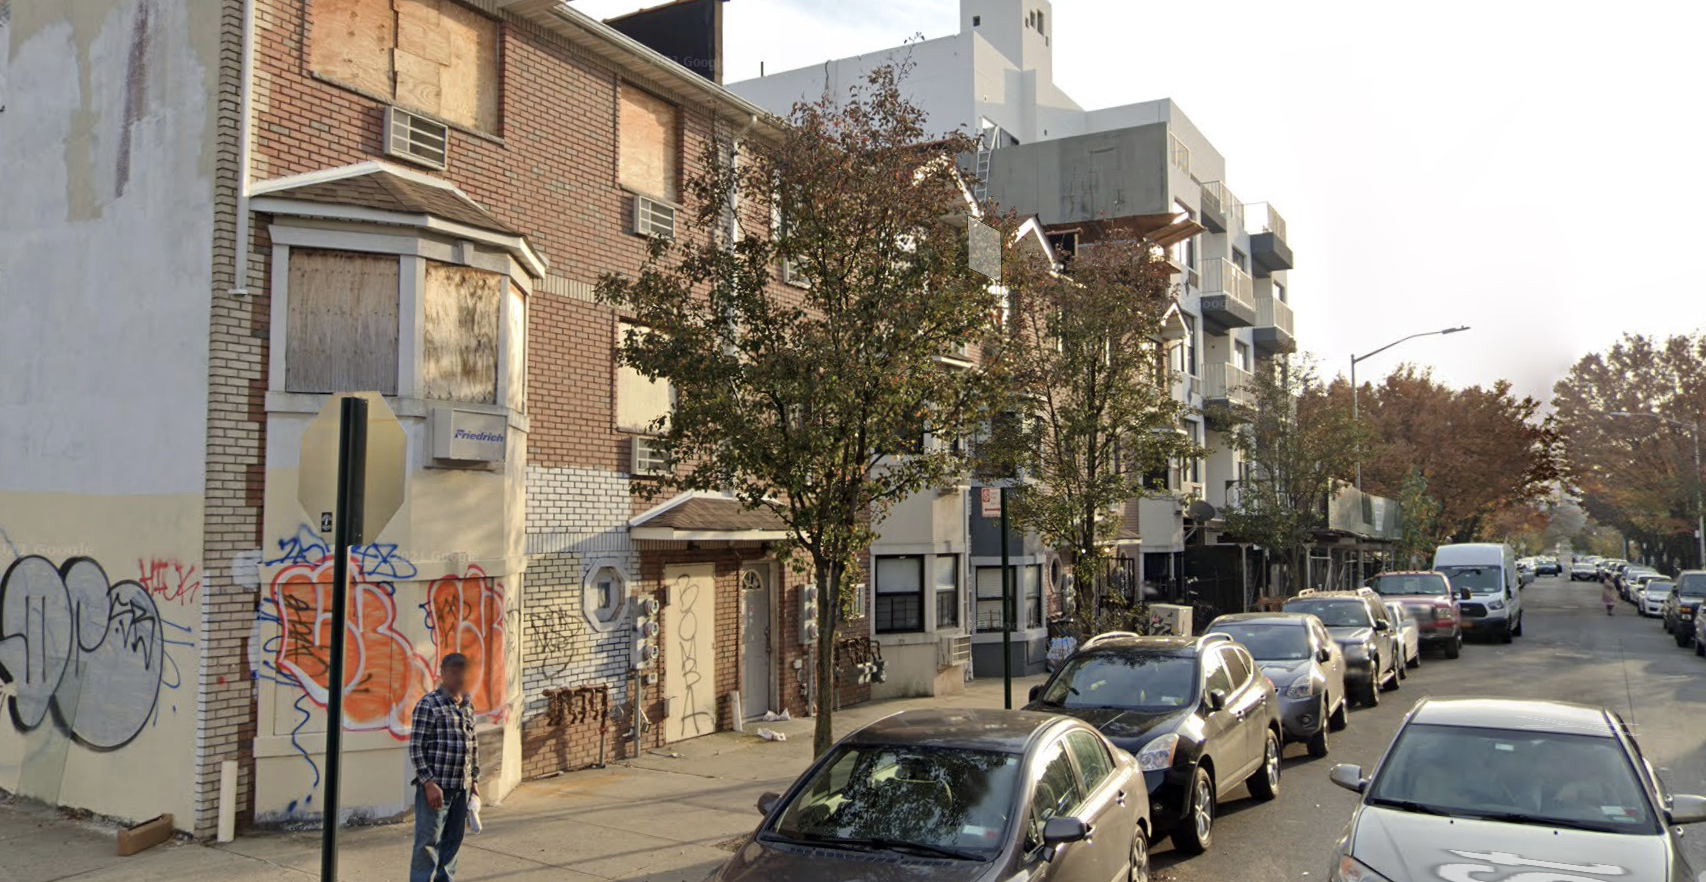
<path id="1" fill-rule="evenodd" d="M 0 258 L 36 312 L 0 346 L 29 377 L 0 404 L 24 426 L 0 452 L 0 604 L 46 599 L 43 628 L 75 630 L 99 585 L 113 616 L 147 602 L 159 626 L 133 659 L 82 660 L 125 676 L 15 684 L 0 786 L 201 836 L 222 814 L 321 814 L 331 561 L 297 490 L 334 392 L 379 392 L 408 450 L 401 510 L 355 553 L 346 814 L 411 802 L 408 715 L 447 652 L 479 665 L 498 797 L 807 711 L 804 577 L 773 560 L 778 525 L 635 493 L 669 389 L 618 365 L 626 322 L 592 297 L 676 222 L 706 147 L 773 135 L 715 58 L 672 61 L 554 0 L 22 5 L 0 15 L 0 169 L 36 183 L 0 208 L 19 232 Z M 43 355 L 78 321 L 99 368 Z M 102 786 L 131 780 L 116 763 L 160 780 Z"/>

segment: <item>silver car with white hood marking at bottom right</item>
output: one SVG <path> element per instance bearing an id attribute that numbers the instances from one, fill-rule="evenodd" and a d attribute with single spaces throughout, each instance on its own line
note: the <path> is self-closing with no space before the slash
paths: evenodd
<path id="1" fill-rule="evenodd" d="M 1518 699 L 1425 699 L 1365 775 L 1331 880 L 1641 879 L 1692 882 L 1679 824 L 1706 797 L 1667 795 L 1614 711 Z"/>

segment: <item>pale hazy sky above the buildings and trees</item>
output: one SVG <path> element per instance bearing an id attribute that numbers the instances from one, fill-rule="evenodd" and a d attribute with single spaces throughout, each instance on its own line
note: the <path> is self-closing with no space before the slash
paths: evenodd
<path id="1" fill-rule="evenodd" d="M 725 80 L 947 36 L 957 10 L 730 0 Z M 1547 397 L 1626 331 L 1706 326 L 1703 26 L 1682 0 L 1056 0 L 1054 80 L 1085 107 L 1172 97 L 1228 186 L 1285 215 L 1298 346 L 1324 374 L 1467 324 L 1358 379 L 1411 362 Z"/>

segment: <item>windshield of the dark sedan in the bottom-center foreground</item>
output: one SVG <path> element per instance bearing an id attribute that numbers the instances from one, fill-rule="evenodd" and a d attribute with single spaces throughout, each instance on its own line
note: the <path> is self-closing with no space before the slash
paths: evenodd
<path id="1" fill-rule="evenodd" d="M 838 747 L 764 831 L 797 843 L 918 844 L 993 856 L 1007 843 L 1022 757 L 996 751 Z"/>

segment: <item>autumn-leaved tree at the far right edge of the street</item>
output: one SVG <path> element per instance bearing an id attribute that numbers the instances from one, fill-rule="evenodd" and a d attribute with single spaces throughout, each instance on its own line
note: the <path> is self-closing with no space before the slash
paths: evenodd
<path id="1" fill-rule="evenodd" d="M 1699 565 L 1706 476 L 1694 469 L 1689 426 L 1706 421 L 1706 336 L 1624 336 L 1578 360 L 1554 386 L 1552 406 L 1568 483 L 1592 519 L 1638 541 L 1655 563 Z"/>

